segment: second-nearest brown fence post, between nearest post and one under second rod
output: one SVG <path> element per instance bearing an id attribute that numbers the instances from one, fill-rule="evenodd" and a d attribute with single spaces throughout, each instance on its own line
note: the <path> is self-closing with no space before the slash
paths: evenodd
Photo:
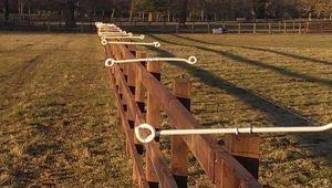
<path id="1" fill-rule="evenodd" d="M 180 103 L 190 111 L 190 88 L 191 83 L 189 79 L 177 79 L 174 81 L 173 94 L 180 101 Z M 170 122 L 170 125 L 173 123 Z M 172 174 L 178 187 L 186 188 L 188 182 L 188 146 L 181 136 L 172 137 Z"/>

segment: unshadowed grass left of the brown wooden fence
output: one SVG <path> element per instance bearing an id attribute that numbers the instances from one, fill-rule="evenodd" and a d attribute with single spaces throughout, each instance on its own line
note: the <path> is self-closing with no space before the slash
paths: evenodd
<path id="1" fill-rule="evenodd" d="M 0 185 L 131 187 L 97 38 L 0 42 Z"/>

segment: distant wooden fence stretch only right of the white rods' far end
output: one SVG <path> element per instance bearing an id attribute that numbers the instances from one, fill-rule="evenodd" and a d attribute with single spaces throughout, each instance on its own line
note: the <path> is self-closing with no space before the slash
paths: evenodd
<path id="1" fill-rule="evenodd" d="M 212 33 L 212 29 L 226 28 L 228 33 L 332 33 L 332 21 L 313 22 L 117 22 L 133 32 L 154 33 Z"/>

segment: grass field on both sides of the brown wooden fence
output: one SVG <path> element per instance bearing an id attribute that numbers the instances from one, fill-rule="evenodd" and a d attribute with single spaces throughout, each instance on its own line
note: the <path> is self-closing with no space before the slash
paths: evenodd
<path id="1" fill-rule="evenodd" d="M 204 126 L 290 126 L 332 122 L 330 35 L 149 35 L 163 82 L 193 80 Z M 0 34 L 0 185 L 129 187 L 129 163 L 92 34 Z M 218 136 L 218 139 L 221 139 Z M 331 133 L 261 135 L 260 181 L 330 187 Z M 191 187 L 209 187 L 190 168 Z"/>

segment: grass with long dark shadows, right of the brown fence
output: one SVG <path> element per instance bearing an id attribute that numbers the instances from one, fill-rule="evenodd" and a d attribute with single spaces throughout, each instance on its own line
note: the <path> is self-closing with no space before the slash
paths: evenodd
<path id="1" fill-rule="evenodd" d="M 203 126 L 332 122 L 331 35 L 151 34 L 148 40 L 162 43 L 162 49 L 146 48 L 148 56 L 198 58 L 195 66 L 164 64 L 163 80 L 172 87 L 173 79 L 191 77 L 193 113 Z M 260 137 L 262 185 L 332 185 L 331 132 Z"/>

